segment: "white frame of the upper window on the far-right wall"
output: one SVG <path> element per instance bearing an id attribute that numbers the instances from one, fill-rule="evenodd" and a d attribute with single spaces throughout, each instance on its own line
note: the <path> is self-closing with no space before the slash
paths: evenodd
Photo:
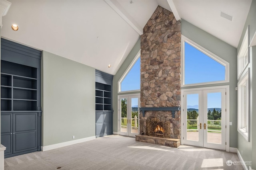
<path id="1" fill-rule="evenodd" d="M 249 55 L 249 41 L 250 41 L 250 38 L 249 38 L 249 25 L 246 29 L 246 32 L 244 34 L 244 39 L 242 41 L 242 44 L 241 44 L 241 47 L 239 49 L 239 52 L 238 52 L 238 55 L 237 55 L 237 78 L 238 80 L 241 78 L 243 72 L 246 70 L 248 64 L 250 63 L 250 55 Z M 240 67 L 240 61 L 239 59 L 241 58 L 241 55 L 243 55 L 245 53 L 245 51 L 247 50 L 247 53 L 248 53 L 248 58 L 247 58 L 247 63 L 244 64 L 244 67 L 241 68 L 240 72 L 239 72 L 239 67 Z"/>

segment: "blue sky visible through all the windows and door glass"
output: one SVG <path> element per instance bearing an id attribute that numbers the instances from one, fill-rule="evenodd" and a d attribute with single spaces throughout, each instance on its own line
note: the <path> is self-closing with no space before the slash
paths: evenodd
<path id="1" fill-rule="evenodd" d="M 185 84 L 225 80 L 225 66 L 185 42 Z M 140 89 L 140 57 L 121 82 L 121 91 Z M 208 108 L 221 107 L 221 94 L 208 94 Z M 205 99 L 206 100 L 206 99 Z M 136 106 L 138 104 L 132 104 Z M 198 105 L 198 97 L 187 98 L 188 106 Z"/>

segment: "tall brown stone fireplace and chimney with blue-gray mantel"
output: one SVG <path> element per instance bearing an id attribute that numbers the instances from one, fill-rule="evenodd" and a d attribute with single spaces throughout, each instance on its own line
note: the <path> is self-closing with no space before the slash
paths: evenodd
<path id="1" fill-rule="evenodd" d="M 136 141 L 180 145 L 180 47 L 180 20 L 158 6 L 141 35 L 140 110 L 146 109 L 140 112 Z M 157 125 L 163 132 L 149 131 Z"/>

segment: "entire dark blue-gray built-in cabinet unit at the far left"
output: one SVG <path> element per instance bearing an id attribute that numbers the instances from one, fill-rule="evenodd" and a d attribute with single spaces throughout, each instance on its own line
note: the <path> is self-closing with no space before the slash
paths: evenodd
<path id="1" fill-rule="evenodd" d="M 41 51 L 1 39 L 1 143 L 5 158 L 41 150 Z"/>

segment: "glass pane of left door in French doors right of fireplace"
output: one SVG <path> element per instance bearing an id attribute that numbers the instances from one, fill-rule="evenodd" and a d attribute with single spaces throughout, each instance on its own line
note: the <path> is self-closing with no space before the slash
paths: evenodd
<path id="1" fill-rule="evenodd" d="M 187 95 L 187 140 L 199 141 L 198 122 L 199 95 Z"/>

